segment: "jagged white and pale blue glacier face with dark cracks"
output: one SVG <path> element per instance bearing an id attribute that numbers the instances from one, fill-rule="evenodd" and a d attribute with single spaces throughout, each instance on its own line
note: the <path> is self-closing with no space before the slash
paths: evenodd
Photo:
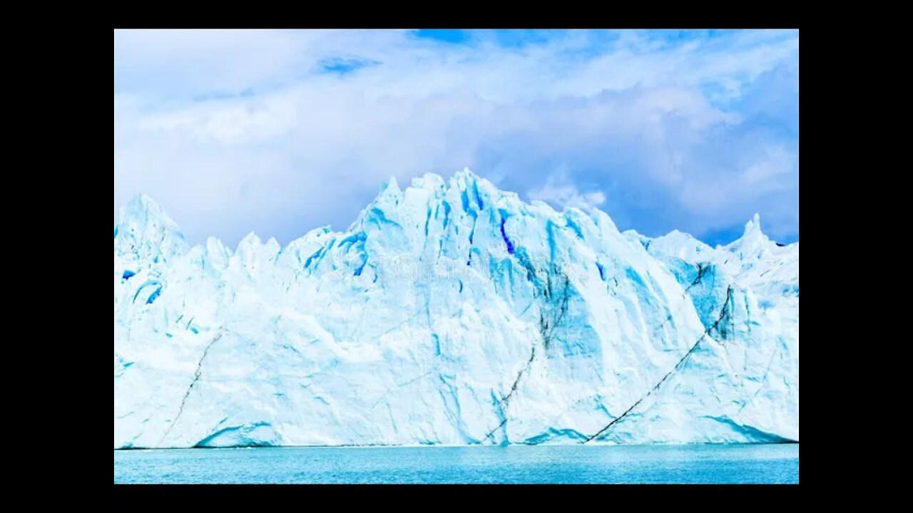
<path id="1" fill-rule="evenodd" d="M 114 231 L 114 447 L 799 439 L 799 244 L 620 233 L 464 171 L 345 232 Z"/>

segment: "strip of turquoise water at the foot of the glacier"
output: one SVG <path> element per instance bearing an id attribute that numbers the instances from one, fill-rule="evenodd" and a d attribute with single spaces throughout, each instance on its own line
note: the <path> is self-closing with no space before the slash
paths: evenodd
<path id="1" fill-rule="evenodd" d="M 798 483 L 799 445 L 114 451 L 115 483 Z"/>

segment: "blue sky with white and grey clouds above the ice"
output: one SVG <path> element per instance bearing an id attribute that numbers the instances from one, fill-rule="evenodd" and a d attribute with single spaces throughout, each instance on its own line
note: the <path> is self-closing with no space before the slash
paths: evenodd
<path id="1" fill-rule="evenodd" d="M 114 217 L 192 243 L 343 230 L 390 177 L 711 245 L 799 239 L 798 30 L 115 30 Z"/>

